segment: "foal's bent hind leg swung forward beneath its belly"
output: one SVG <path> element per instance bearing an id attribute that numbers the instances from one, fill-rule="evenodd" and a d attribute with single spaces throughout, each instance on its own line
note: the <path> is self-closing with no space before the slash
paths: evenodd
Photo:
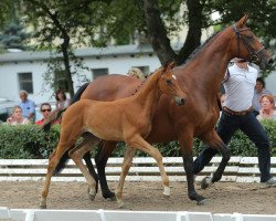
<path id="1" fill-rule="evenodd" d="M 83 140 L 81 141 L 81 144 L 78 144 L 76 147 L 71 149 L 68 155 L 74 160 L 74 162 L 79 168 L 83 176 L 85 177 L 89 187 L 89 191 L 88 191 L 89 199 L 94 200 L 96 196 L 96 181 L 94 180 L 94 178 L 91 176 L 87 168 L 83 164 L 83 156 L 86 152 L 88 152 L 93 148 L 93 146 L 98 145 L 100 143 L 100 139 L 89 133 L 83 134 L 82 137 L 83 137 Z"/>

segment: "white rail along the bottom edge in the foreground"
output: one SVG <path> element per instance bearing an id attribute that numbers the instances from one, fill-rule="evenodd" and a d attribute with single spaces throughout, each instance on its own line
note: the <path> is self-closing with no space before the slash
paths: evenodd
<path id="1" fill-rule="evenodd" d="M 276 214 L 0 208 L 0 221 L 275 221 Z"/>

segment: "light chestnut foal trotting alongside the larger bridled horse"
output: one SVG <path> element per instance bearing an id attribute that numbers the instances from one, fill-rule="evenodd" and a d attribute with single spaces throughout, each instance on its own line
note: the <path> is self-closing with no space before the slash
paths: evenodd
<path id="1" fill-rule="evenodd" d="M 70 150 L 68 156 L 87 180 L 91 199 L 95 198 L 96 181 L 87 171 L 82 159 L 84 154 L 88 152 L 93 146 L 98 145 L 102 139 L 123 140 L 127 145 L 116 190 L 116 198 L 120 206 L 123 206 L 123 186 L 132 161 L 135 148 L 156 159 L 162 177 L 163 194 L 170 194 L 169 179 L 163 168 L 162 156 L 157 148 L 149 145 L 144 138 L 151 130 L 153 113 L 161 94 L 173 97 L 178 105 L 185 101 L 185 94 L 180 90 L 177 77 L 172 74 L 172 65 L 174 64 L 171 63 L 156 71 L 145 82 L 141 90 L 131 97 L 115 102 L 81 99 L 66 109 L 62 118 L 60 141 L 50 157 L 46 180 L 42 190 L 41 208 L 46 208 L 51 177 L 60 159 L 67 150 Z M 176 103 L 173 105 L 177 107 Z M 74 147 L 79 137 L 83 140 Z"/>

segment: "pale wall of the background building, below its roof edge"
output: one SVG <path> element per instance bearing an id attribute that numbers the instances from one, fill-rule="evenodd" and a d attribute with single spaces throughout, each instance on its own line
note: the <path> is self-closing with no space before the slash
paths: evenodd
<path id="1" fill-rule="evenodd" d="M 99 59 L 86 57 L 83 62 L 91 70 L 108 69 L 109 74 L 126 74 L 132 66 L 149 66 L 150 72 L 153 72 L 160 66 L 159 60 L 148 54 L 135 57 L 132 55 L 103 56 Z M 54 91 L 45 84 L 43 78 L 46 69 L 46 63 L 42 61 L 2 63 L 0 65 L 0 97 L 19 102 L 20 87 L 18 73 L 31 72 L 33 76 L 33 94 L 29 94 L 29 98 L 33 99 L 35 104 L 54 102 Z M 92 71 L 83 70 L 73 76 L 75 92 L 86 82 L 85 80 L 93 80 Z"/>

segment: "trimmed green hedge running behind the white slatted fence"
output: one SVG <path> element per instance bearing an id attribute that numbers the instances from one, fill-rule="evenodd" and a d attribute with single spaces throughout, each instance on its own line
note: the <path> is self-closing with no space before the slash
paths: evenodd
<path id="1" fill-rule="evenodd" d="M 276 120 L 262 122 L 272 144 L 272 156 L 276 157 Z M 44 133 L 38 125 L 0 125 L 0 158 L 6 159 L 39 159 L 49 158 L 56 147 L 60 134 L 60 125 L 54 125 L 50 133 Z M 119 143 L 114 151 L 114 157 L 124 156 L 125 144 Z M 178 141 L 155 145 L 162 156 L 178 157 Z M 194 139 L 193 155 L 197 156 L 202 149 L 202 143 Z M 255 145 L 242 133 L 237 131 L 229 144 L 232 156 L 257 156 Z M 95 150 L 93 155 L 95 155 Z M 137 151 L 137 156 L 147 156 Z"/>

